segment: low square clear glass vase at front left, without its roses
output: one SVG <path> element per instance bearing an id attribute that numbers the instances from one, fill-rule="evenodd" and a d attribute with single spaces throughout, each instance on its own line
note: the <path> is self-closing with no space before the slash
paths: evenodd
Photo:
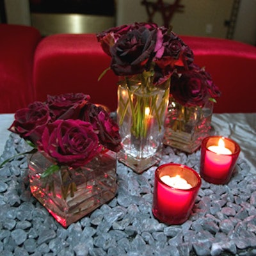
<path id="1" fill-rule="evenodd" d="M 30 189 L 33 196 L 63 227 L 68 227 L 115 196 L 114 152 L 102 152 L 81 168 L 61 166 L 57 172 L 42 178 L 42 173 L 51 165 L 39 152 L 31 156 Z"/>

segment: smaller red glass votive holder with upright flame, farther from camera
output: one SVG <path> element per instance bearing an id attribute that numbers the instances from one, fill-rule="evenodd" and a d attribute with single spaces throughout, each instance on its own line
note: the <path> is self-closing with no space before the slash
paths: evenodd
<path id="1" fill-rule="evenodd" d="M 236 166 L 240 147 L 234 140 L 210 136 L 202 141 L 200 175 L 213 184 L 227 184 Z"/>

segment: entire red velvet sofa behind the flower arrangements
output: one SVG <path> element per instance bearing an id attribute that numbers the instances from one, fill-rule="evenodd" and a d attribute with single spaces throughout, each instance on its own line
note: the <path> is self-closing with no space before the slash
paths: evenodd
<path id="1" fill-rule="evenodd" d="M 0 113 L 13 113 L 47 94 L 83 92 L 92 102 L 116 109 L 116 83 L 109 56 L 93 34 L 51 35 L 36 29 L 0 24 Z M 180 36 L 205 66 L 222 95 L 215 113 L 256 112 L 256 47 L 218 38 Z"/>

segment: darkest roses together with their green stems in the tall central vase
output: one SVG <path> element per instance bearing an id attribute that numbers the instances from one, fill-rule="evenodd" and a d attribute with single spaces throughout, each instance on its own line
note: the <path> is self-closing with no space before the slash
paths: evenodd
<path id="1" fill-rule="evenodd" d="M 119 125 L 124 122 L 128 109 L 132 112 L 131 132 L 136 138 L 147 136 L 147 115 L 156 116 L 159 131 L 163 128 L 160 114 L 165 112 L 166 94 L 170 77 L 175 70 L 188 69 L 193 62 L 193 52 L 170 29 L 158 27 L 154 23 L 135 23 L 111 28 L 97 34 L 98 41 L 106 54 L 111 56 L 110 68 L 120 77 L 120 84 L 127 88 L 127 100 L 119 104 Z M 100 76 L 101 77 L 101 76 Z M 158 100 L 157 89 L 163 89 L 165 95 Z M 145 100 L 146 93 L 155 94 L 151 100 Z M 136 102 L 132 99 L 138 96 Z M 158 105 L 157 101 L 160 101 Z M 150 106 L 150 102 L 152 106 Z M 147 109 L 150 113 L 147 115 Z"/>

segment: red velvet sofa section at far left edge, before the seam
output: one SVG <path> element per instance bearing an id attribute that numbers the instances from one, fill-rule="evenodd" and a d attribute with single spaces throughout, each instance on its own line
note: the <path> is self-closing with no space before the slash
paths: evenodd
<path id="1" fill-rule="evenodd" d="M 0 113 L 14 113 L 34 100 L 33 56 L 41 35 L 11 24 L 0 24 L 0 35 Z"/>

